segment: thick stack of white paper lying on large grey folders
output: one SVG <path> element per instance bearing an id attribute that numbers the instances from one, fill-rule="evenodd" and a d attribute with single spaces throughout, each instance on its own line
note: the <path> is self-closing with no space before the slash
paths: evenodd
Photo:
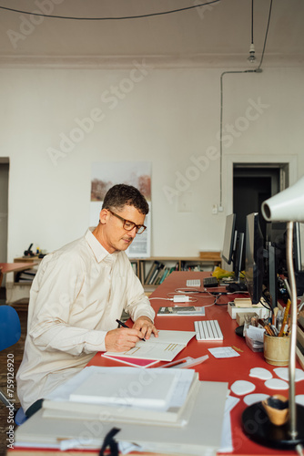
<path id="1" fill-rule="evenodd" d="M 44 417 L 183 426 L 198 393 L 192 369 L 85 368 L 44 401 Z"/>

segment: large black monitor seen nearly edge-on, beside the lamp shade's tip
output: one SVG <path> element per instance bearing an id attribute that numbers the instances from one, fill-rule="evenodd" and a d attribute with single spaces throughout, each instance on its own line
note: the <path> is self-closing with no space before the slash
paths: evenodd
<path id="1" fill-rule="evenodd" d="M 245 242 L 245 281 L 252 304 L 258 304 L 264 275 L 264 239 L 258 223 L 258 212 L 247 215 Z"/>

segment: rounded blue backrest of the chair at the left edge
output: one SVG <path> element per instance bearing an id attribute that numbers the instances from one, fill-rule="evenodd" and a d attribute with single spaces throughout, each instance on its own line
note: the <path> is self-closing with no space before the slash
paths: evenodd
<path id="1" fill-rule="evenodd" d="M 20 336 L 20 318 L 15 308 L 0 306 L 0 351 L 15 345 Z"/>

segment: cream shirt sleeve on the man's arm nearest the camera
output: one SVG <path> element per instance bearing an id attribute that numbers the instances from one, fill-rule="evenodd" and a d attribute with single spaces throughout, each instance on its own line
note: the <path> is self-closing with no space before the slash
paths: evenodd
<path id="1" fill-rule="evenodd" d="M 71 308 L 85 286 L 86 268 L 81 259 L 67 263 L 61 258 L 47 259 L 41 264 L 32 285 L 28 327 L 29 336 L 41 350 L 76 356 L 105 350 L 106 331 L 69 324 Z"/>

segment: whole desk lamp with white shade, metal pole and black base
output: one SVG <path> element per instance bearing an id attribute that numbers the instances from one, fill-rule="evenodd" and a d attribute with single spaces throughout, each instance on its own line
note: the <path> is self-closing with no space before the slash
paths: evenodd
<path id="1" fill-rule="evenodd" d="M 287 223 L 287 267 L 290 286 L 291 336 L 289 349 L 289 420 L 282 426 L 269 421 L 261 402 L 245 409 L 242 421 L 251 440 L 279 449 L 293 449 L 304 442 L 304 407 L 295 402 L 295 369 L 297 345 L 297 286 L 293 267 L 293 224 L 304 222 L 304 177 L 294 185 L 262 203 L 262 214 L 268 222 Z"/>

